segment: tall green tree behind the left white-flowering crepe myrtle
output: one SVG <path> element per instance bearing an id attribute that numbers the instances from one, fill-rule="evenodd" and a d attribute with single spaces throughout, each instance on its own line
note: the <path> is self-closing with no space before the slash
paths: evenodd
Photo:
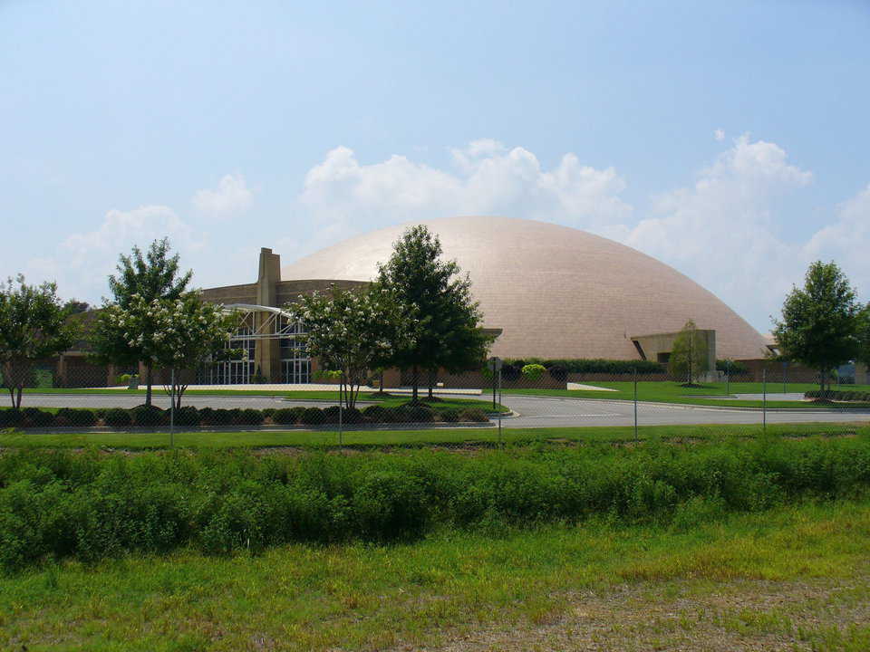
<path id="1" fill-rule="evenodd" d="M 151 385 L 158 358 L 154 336 L 159 325 L 149 314 L 161 300 L 180 299 L 186 292 L 192 272 L 179 277 L 179 255 L 169 255 L 169 240 L 155 240 L 144 255 L 134 246 L 131 255 L 121 254 L 118 275 L 109 277 L 113 302 L 103 303 L 103 312 L 117 306 L 121 312 L 101 315 L 92 334 L 98 360 L 112 364 L 145 365 L 145 405 L 151 405 Z M 119 333 L 112 329 L 110 316 L 128 323 L 135 331 Z"/>

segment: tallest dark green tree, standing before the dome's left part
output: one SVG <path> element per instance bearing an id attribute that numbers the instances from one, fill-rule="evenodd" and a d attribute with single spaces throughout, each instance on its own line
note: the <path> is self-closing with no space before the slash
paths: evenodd
<path id="1" fill-rule="evenodd" d="M 390 363 L 411 369 L 411 402 L 418 399 L 420 369 L 456 372 L 478 369 L 490 340 L 480 328 L 482 314 L 471 297 L 471 280 L 456 261 L 442 261 L 437 235 L 412 226 L 393 246 L 390 260 L 379 265 L 377 283 L 387 289 L 413 321 L 411 343 L 398 347 Z M 431 383 L 430 383 L 431 395 Z"/>

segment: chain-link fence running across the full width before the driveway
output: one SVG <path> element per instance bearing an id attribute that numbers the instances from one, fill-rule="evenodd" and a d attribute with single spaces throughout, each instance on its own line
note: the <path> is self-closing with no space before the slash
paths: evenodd
<path id="1" fill-rule="evenodd" d="M 542 368 L 543 369 L 543 368 Z M 48 433 L 256 433 L 257 446 L 440 446 L 469 449 L 512 443 L 630 444 L 650 437 L 691 441 L 725 436 L 854 435 L 870 423 L 870 386 L 818 386 L 714 372 L 688 382 L 664 372 L 536 375 L 500 370 L 430 374 L 425 386 L 359 388 L 347 398 L 337 383 L 181 385 L 155 374 L 150 407 L 144 386 L 106 387 L 104 369 L 88 385 L 54 387 L 38 369 L 22 405 L 0 409 L 0 429 Z M 407 376 L 405 380 L 407 380 Z M 163 382 L 167 384 L 164 385 Z M 270 437 L 272 439 L 270 440 Z M 94 437 L 99 441 L 99 437 Z M 122 441 L 116 438 L 116 441 Z M 247 440 L 239 438 L 240 445 Z"/>

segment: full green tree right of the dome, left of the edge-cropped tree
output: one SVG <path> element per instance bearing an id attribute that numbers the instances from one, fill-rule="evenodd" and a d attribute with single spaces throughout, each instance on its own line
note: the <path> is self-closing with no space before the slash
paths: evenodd
<path id="1" fill-rule="evenodd" d="M 860 305 L 836 263 L 809 266 L 804 287 L 793 287 L 774 320 L 773 336 L 781 355 L 819 372 L 819 386 L 831 372 L 860 353 Z"/>

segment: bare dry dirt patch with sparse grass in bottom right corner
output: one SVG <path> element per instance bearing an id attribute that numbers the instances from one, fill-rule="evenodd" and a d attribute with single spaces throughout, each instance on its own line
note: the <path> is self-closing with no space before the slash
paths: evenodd
<path id="1" fill-rule="evenodd" d="M 394 650 L 828 649 L 832 639 L 855 636 L 855 628 L 870 622 L 868 582 L 870 574 L 843 582 L 685 580 L 623 585 L 554 597 L 552 609 L 536 611 L 510 628 L 464 630 L 448 636 L 449 642 L 441 647 Z"/>

